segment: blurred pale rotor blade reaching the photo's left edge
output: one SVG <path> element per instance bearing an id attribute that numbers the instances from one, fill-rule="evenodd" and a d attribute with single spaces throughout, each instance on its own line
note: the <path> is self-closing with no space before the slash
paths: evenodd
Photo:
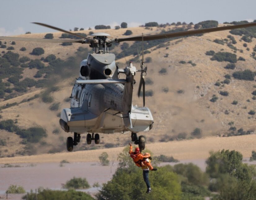
<path id="1" fill-rule="evenodd" d="M 42 39 L 42 38 L 16 38 L 0 36 L 0 40 L 24 41 L 24 42 L 49 42 L 49 43 L 64 43 L 64 42 L 78 42 L 83 43 L 82 40 L 66 40 L 66 39 Z"/>

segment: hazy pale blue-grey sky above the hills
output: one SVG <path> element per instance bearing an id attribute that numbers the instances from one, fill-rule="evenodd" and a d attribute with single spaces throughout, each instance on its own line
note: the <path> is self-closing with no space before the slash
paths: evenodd
<path id="1" fill-rule="evenodd" d="M 30 22 L 60 27 L 114 28 L 121 22 L 138 26 L 145 22 L 197 23 L 204 20 L 255 20 L 256 0 L 0 0 L 0 36 L 54 32 Z"/>

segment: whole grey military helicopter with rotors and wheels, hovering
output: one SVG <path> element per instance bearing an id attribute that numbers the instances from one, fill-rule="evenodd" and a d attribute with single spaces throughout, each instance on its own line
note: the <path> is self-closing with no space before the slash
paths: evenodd
<path id="1" fill-rule="evenodd" d="M 74 133 L 74 138 L 67 138 L 68 151 L 72 151 L 74 145 L 80 142 L 80 134 L 82 133 L 87 133 L 87 144 L 91 144 L 92 140 L 95 141 L 95 144 L 99 144 L 100 136 L 98 133 L 121 132 L 125 134 L 129 131 L 131 132 L 131 140 L 139 145 L 141 151 L 145 149 L 145 137 L 137 137 L 137 133 L 149 131 L 153 127 L 154 122 L 150 109 L 145 107 L 144 78 L 147 73 L 147 67 L 144 65 L 143 41 L 246 28 L 256 25 L 256 23 L 248 23 L 175 33 L 141 34 L 127 38 L 110 39 L 110 35 L 107 33 L 93 33 L 88 38 L 51 25 L 37 22 L 34 22 L 34 24 L 68 33 L 81 39 L 66 40 L 16 37 L 0 37 L 0 39 L 51 43 L 77 42 L 89 44 L 89 47 L 93 49 L 93 52 L 88 54 L 87 59 L 82 60 L 80 63 L 79 78 L 75 81 L 70 96 L 70 108 L 65 108 L 61 112 L 61 119 L 59 121 L 61 128 L 65 132 Z M 133 66 L 132 62 L 125 69 L 120 69 L 115 63 L 115 55 L 109 53 L 108 48 L 111 47 L 113 42 L 124 41 L 142 42 L 140 69 Z M 126 78 L 119 79 L 120 73 L 124 73 Z M 133 86 L 136 83 L 134 77 L 137 73 L 140 73 L 137 95 L 140 97 L 142 88 L 143 107 L 132 105 Z"/>

